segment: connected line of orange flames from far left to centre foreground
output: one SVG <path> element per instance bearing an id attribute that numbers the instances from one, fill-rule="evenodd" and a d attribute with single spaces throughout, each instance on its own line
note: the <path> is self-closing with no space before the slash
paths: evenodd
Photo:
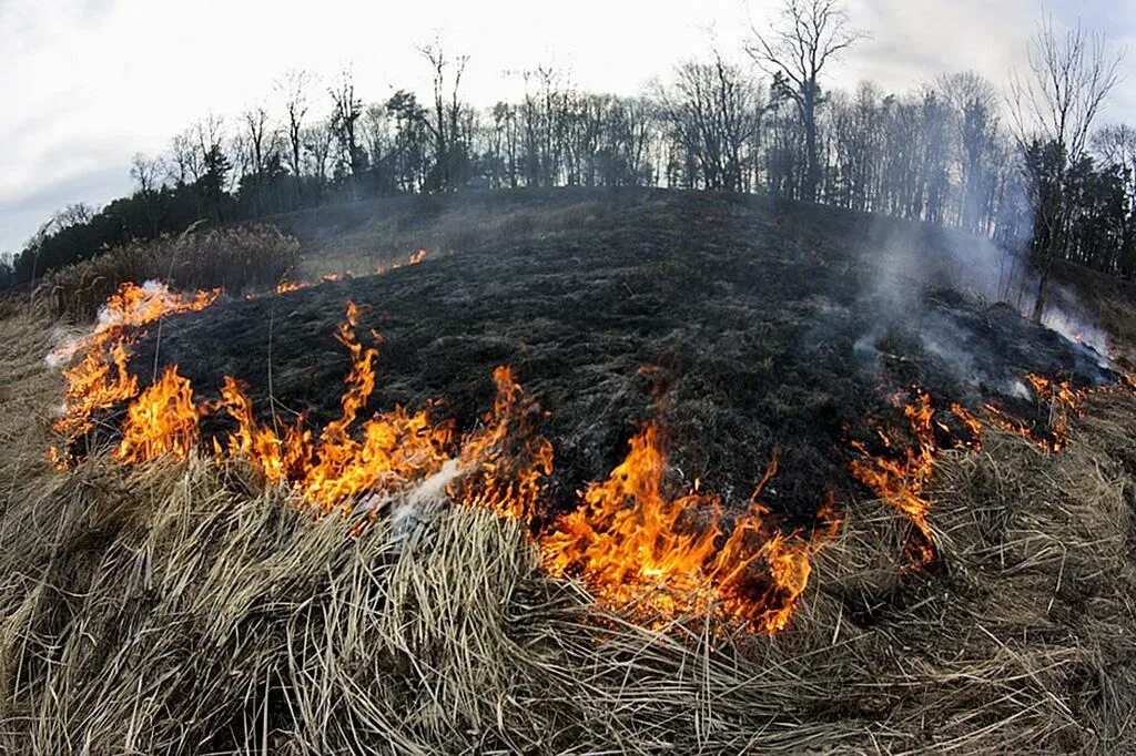
<path id="1" fill-rule="evenodd" d="M 493 412 L 456 452 L 452 421 L 434 421 L 429 408 L 409 412 L 395 406 L 360 421 L 375 389 L 378 350 L 357 338 L 360 310 L 350 302 L 335 335 L 351 358 L 341 414 L 318 439 L 302 417 L 294 425 L 283 425 L 275 415 L 270 426 L 258 422 L 251 400 L 229 376 L 219 402 L 197 401 L 176 366 L 139 392 L 137 378 L 126 372 L 127 344 L 136 338 L 133 329 L 210 302 L 204 293 L 183 299 L 160 287 L 148 293 L 123 286 L 83 342 L 85 353 L 65 372 L 70 403 L 56 423 L 66 442 L 62 451 L 52 448 L 57 465 L 74 459 L 78 435 L 90 434 L 98 411 L 126 402 L 115 452 L 119 462 L 184 461 L 199 447 L 211 448 L 219 461 L 251 462 L 266 482 L 285 484 L 302 504 L 323 514 L 337 507 L 348 514 L 360 509 L 375 514 L 389 507 L 392 497 L 414 486 L 429 487 L 427 479 L 440 476 L 444 486 L 435 488 L 449 490 L 456 502 L 526 522 L 552 574 L 582 577 L 612 607 L 630 608 L 654 622 L 715 615 L 770 633 L 788 623 L 808 586 L 815 552 L 840 526 L 832 496 L 808 531 L 790 531 L 767 518 L 769 510 L 759 496 L 776 473 L 775 457 L 749 511 L 727 529 L 718 497 L 696 490 L 665 493 L 669 463 L 654 425 L 632 438 L 624 463 L 605 482 L 591 485 L 577 510 L 545 524 L 546 507 L 540 504 L 553 468 L 552 445 L 534 432 L 532 415 L 540 409 L 525 397 L 512 371 L 494 371 Z M 373 338 L 382 341 L 377 334 Z M 112 360 L 114 379 L 108 355 L 118 355 Z M 211 445 L 202 446 L 200 418 L 217 411 L 231 415 L 237 428 L 224 440 L 215 436 Z M 282 425 L 283 435 L 277 430 Z"/>

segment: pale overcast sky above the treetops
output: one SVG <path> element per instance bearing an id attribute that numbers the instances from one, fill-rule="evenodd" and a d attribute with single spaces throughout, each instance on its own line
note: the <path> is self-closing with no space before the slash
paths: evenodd
<path id="1" fill-rule="evenodd" d="M 711 37 L 742 60 L 747 17 L 779 0 L 0 0 L 0 251 L 16 251 L 52 211 L 131 191 L 130 159 L 160 152 L 214 112 L 272 104 L 286 70 L 324 82 L 350 66 L 367 101 L 425 92 L 416 47 L 441 34 L 470 56 L 467 100 L 521 91 L 509 72 L 554 64 L 592 91 L 635 93 Z M 1083 23 L 1127 47 L 1125 81 L 1103 120 L 1136 123 L 1136 0 L 1051 0 L 1056 23 Z M 828 84 L 870 78 L 908 92 L 944 72 L 997 85 L 1021 69 L 1036 0 L 847 0 L 871 39 Z M 327 103 L 323 103 L 326 106 Z M 1102 123 L 1103 123 L 1102 120 Z"/>

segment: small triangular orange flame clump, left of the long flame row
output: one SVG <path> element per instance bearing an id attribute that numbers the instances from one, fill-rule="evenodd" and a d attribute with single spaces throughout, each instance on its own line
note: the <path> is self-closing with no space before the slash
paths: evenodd
<path id="1" fill-rule="evenodd" d="M 199 414 L 189 378 L 177 375 L 177 366 L 172 366 L 131 404 L 115 456 L 126 463 L 166 454 L 184 460 L 201 435 Z"/>

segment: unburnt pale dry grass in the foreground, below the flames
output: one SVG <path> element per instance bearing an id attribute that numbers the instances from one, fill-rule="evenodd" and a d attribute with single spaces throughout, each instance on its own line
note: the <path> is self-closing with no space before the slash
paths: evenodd
<path id="1" fill-rule="evenodd" d="M 988 434 L 946 460 L 929 573 L 852 504 L 767 639 L 604 614 L 487 512 L 354 539 L 236 464 L 55 473 L 44 334 L 0 326 L 0 750 L 1136 750 L 1130 395 L 1060 457 Z"/>

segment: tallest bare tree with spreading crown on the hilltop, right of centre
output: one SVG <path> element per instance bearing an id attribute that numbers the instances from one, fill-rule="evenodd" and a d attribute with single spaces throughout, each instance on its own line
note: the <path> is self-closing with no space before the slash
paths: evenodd
<path id="1" fill-rule="evenodd" d="M 805 175 L 802 194 L 817 199 L 820 161 L 817 153 L 817 108 L 821 103 L 820 74 L 842 51 L 864 39 L 849 27 L 841 0 L 784 0 L 778 20 L 768 32 L 751 23 L 753 41 L 746 51 L 774 86 L 795 104 L 804 127 Z"/>

